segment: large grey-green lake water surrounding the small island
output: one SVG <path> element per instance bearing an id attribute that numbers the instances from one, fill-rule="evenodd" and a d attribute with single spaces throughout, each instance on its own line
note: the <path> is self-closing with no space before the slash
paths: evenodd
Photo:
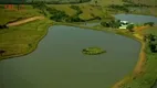
<path id="1" fill-rule="evenodd" d="M 107 53 L 83 55 L 88 46 Z M 0 62 L 0 88 L 107 88 L 132 73 L 139 48 L 117 34 L 54 25 L 33 53 Z"/>

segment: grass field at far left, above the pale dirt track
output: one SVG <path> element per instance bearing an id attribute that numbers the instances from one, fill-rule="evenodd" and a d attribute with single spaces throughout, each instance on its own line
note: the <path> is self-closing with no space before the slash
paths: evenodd
<path id="1" fill-rule="evenodd" d="M 6 24 L 7 22 L 15 21 L 18 19 L 21 20 L 21 19 L 34 16 L 34 15 L 41 15 L 39 13 L 39 10 L 32 9 L 31 6 L 24 6 L 24 8 L 19 11 L 15 6 L 14 6 L 15 10 L 7 10 L 7 9 L 3 9 L 4 8 L 3 4 L 0 4 L 0 6 L 1 6 L 0 24 Z"/>

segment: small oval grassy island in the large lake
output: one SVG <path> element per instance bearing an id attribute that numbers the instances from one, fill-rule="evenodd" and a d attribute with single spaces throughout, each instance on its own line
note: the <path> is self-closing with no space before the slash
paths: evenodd
<path id="1" fill-rule="evenodd" d="M 106 53 L 106 51 L 100 47 L 87 47 L 87 48 L 84 48 L 82 53 L 86 55 L 100 55 L 100 54 Z"/>

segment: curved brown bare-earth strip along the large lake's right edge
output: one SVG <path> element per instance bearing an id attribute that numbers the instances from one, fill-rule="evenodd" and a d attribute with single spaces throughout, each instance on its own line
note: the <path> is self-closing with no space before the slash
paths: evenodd
<path id="1" fill-rule="evenodd" d="M 144 66 L 146 63 L 146 53 L 145 53 L 145 43 L 135 36 L 135 40 L 138 41 L 142 44 L 138 61 L 132 72 L 132 75 L 125 76 L 123 79 L 119 79 L 117 82 L 115 82 L 112 88 L 121 88 L 123 85 L 133 81 L 134 78 L 138 77 L 144 72 Z"/>

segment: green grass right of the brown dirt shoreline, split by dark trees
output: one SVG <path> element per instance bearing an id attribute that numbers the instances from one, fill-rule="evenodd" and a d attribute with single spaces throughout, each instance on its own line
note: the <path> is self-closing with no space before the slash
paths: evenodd
<path id="1" fill-rule="evenodd" d="M 157 35 L 157 26 L 148 28 L 143 31 L 143 34 L 155 34 Z M 157 79 L 157 54 L 151 53 L 148 48 L 148 44 L 146 43 L 146 63 L 145 63 L 145 72 L 139 75 L 138 78 L 133 79 L 133 81 L 124 85 L 123 88 L 150 88 L 155 80 Z"/>

